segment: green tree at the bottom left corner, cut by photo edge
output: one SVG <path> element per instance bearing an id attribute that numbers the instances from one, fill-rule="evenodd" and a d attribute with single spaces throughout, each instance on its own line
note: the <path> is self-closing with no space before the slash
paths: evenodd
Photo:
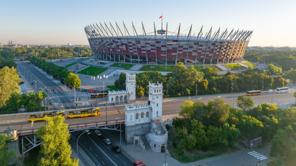
<path id="1" fill-rule="evenodd" d="M 9 136 L 0 134 L 0 166 L 7 166 L 13 156 L 13 152 L 7 150 L 7 139 L 9 139 Z"/>

